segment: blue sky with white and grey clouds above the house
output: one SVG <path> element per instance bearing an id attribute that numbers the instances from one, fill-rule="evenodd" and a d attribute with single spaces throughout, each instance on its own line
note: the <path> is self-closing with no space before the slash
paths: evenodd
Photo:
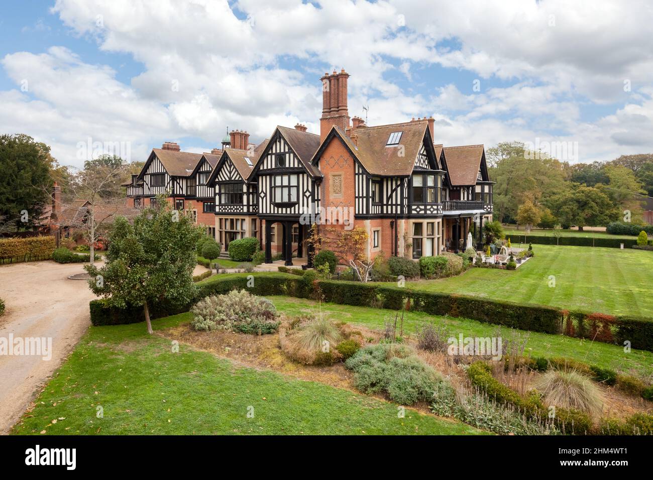
<path id="1" fill-rule="evenodd" d="M 624 0 L 24 0 L 0 14 L 0 133 L 77 166 L 89 138 L 144 160 L 227 126 L 319 133 L 319 77 L 344 67 L 370 125 L 432 115 L 445 145 L 609 160 L 653 152 L 651 24 Z"/>

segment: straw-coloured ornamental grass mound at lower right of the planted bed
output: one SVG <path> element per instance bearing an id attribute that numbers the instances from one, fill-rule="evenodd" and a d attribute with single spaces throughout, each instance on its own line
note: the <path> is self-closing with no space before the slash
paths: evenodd
<path id="1" fill-rule="evenodd" d="M 548 370 L 535 384 L 545 402 L 598 416 L 603 408 L 601 393 L 592 380 L 578 370 Z"/>

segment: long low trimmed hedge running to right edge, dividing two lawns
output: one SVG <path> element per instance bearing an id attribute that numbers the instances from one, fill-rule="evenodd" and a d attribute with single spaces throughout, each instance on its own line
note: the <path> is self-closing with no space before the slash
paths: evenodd
<path id="1" fill-rule="evenodd" d="M 378 283 L 317 280 L 317 275 L 312 270 L 301 277 L 281 272 L 251 276 L 251 286 L 247 285 L 249 275 L 213 276 L 197 284 L 195 298 L 220 295 L 232 289 L 246 289 L 255 295 L 315 298 L 319 288 L 319 295 L 326 302 L 363 307 L 381 306 L 390 310 L 400 310 L 408 305 L 410 310 L 430 315 L 449 315 L 532 332 L 593 338 L 596 342 L 609 344 L 623 345 L 628 341 L 633 348 L 653 351 L 653 320 L 645 318 L 569 312 L 550 306 L 423 292 Z"/>

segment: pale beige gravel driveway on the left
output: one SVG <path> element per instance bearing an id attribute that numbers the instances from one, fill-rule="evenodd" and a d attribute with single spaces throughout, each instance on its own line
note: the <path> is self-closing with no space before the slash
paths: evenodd
<path id="1" fill-rule="evenodd" d="M 102 264 L 102 262 L 99 262 Z M 193 275 L 206 272 L 198 265 Z M 88 302 L 95 296 L 83 280 L 83 264 L 53 261 L 0 265 L 0 338 L 52 338 L 52 358 L 0 355 L 0 434 L 6 434 L 27 409 L 61 361 L 91 325 Z"/>

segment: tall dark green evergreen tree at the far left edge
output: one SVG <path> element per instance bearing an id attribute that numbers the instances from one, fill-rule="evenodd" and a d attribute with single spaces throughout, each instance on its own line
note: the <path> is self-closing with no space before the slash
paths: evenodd
<path id="1" fill-rule="evenodd" d="M 1 217 L 22 227 L 38 223 L 50 202 L 51 159 L 50 147 L 31 136 L 0 135 Z"/>

